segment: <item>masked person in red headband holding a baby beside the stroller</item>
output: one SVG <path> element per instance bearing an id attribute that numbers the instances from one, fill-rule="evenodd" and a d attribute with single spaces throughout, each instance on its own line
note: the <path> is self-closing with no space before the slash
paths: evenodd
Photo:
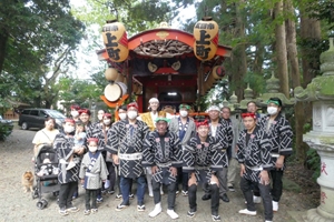
<path id="1" fill-rule="evenodd" d="M 80 155 L 85 151 L 85 147 L 75 148 L 75 138 L 72 132 L 75 131 L 75 120 L 66 119 L 63 124 L 63 133 L 56 135 L 53 142 L 53 149 L 57 150 L 59 159 L 58 181 L 60 183 L 59 190 L 59 213 L 61 215 L 68 215 L 68 212 L 78 212 L 79 209 L 72 205 L 72 195 L 78 190 L 79 169 L 80 169 Z M 68 160 L 73 153 L 76 165 L 70 170 L 66 170 Z"/>

